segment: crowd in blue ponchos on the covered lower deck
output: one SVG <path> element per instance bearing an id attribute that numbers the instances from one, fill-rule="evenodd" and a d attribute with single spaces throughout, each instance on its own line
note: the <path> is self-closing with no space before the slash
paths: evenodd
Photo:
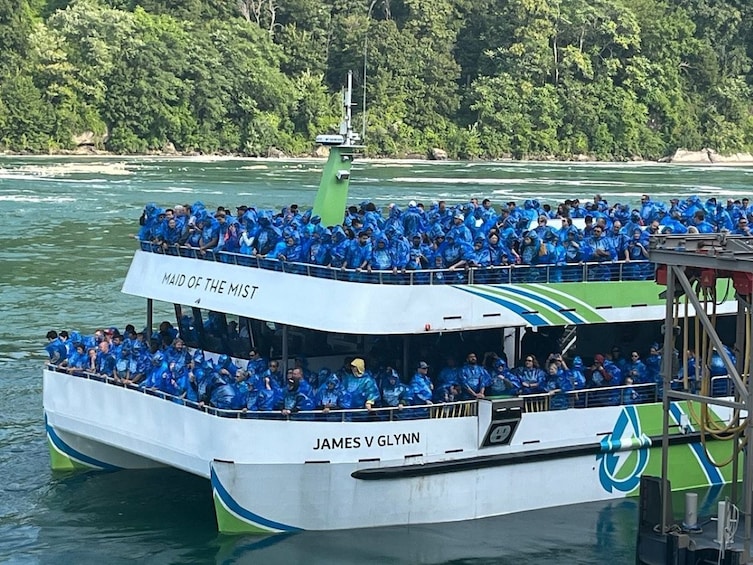
<path id="1" fill-rule="evenodd" d="M 463 364 L 450 355 L 435 371 L 426 361 L 419 361 L 409 376 L 400 375 L 394 367 L 370 368 L 364 357 L 346 357 L 336 370 L 318 371 L 310 371 L 300 357 L 284 371 L 279 360 L 265 359 L 257 349 L 250 350 L 248 360 L 228 355 L 213 360 L 200 349 L 189 353 L 169 322 L 163 322 L 152 336 L 137 333 L 129 325 L 123 334 L 116 328 L 89 336 L 50 330 L 47 339 L 48 363 L 60 371 L 99 375 L 198 406 L 285 416 L 314 410 L 393 408 L 401 411 L 400 417 L 425 417 L 425 409 L 402 409 L 530 395 L 546 396 L 551 410 L 635 404 L 660 398 L 663 386 L 658 344 L 651 346 L 645 358 L 636 350 L 623 357 L 615 346 L 606 354 L 595 354 L 590 365 L 579 356 L 568 360 L 553 352 L 544 361 L 526 354 L 517 367 L 510 367 L 504 355 L 487 352 L 479 359 L 470 352 Z M 732 351 L 728 353 L 734 359 Z M 674 355 L 673 366 L 679 369 L 673 386 L 683 388 L 685 373 L 691 384 L 695 379 L 695 354 Z M 715 353 L 710 375 L 724 374 L 724 365 Z M 727 386 L 726 380 L 720 380 L 714 394 L 728 394 Z M 578 391 L 584 394 L 575 394 Z"/>

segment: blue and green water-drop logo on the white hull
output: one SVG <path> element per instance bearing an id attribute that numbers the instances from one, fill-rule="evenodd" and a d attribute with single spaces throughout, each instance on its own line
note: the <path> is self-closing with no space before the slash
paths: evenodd
<path id="1" fill-rule="evenodd" d="M 622 409 L 612 433 L 601 440 L 599 481 L 607 492 L 631 492 L 638 487 L 648 465 L 651 439 L 641 432 L 634 406 Z"/>

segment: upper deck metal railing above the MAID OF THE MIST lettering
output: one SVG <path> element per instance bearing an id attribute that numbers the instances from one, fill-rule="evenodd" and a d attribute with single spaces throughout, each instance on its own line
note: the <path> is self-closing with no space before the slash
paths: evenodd
<path id="1" fill-rule="evenodd" d="M 649 261 L 609 261 L 540 265 L 503 265 L 462 269 L 422 269 L 419 271 L 359 271 L 324 267 L 309 263 L 279 261 L 227 251 L 200 252 L 195 247 L 160 245 L 141 241 L 141 250 L 175 257 L 202 259 L 217 263 L 254 267 L 309 277 L 382 285 L 557 283 L 583 281 L 654 280 L 654 264 Z"/>

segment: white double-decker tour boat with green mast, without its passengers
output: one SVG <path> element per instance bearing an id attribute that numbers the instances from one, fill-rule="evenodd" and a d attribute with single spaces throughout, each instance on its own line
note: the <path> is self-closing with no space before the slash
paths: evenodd
<path id="1" fill-rule="evenodd" d="M 323 225 L 342 221 L 359 151 L 345 124 L 341 135 L 320 139 L 330 150 L 314 203 Z M 584 356 L 626 338 L 646 348 L 656 339 L 666 313 L 656 281 L 623 280 L 615 264 L 610 281 L 590 281 L 584 265 L 580 282 L 525 282 L 517 276 L 525 268 L 500 268 L 481 281 L 472 269 L 463 278 L 355 273 L 190 248 L 169 254 L 141 242 L 122 290 L 146 300 L 148 327 L 154 301 L 175 306 L 181 330 L 186 319 L 195 327 L 210 316 L 236 321 L 240 343 L 202 332 L 184 338 L 207 355 L 241 358 L 261 346 L 283 367 L 305 355 L 312 369 L 336 369 L 345 356 L 379 348 L 409 378 L 409 362 L 427 344 L 468 343 L 518 359 L 527 328 L 556 330 Z M 734 303 L 718 312 L 734 312 Z M 637 495 L 641 475 L 660 474 L 661 399 L 594 406 L 589 394 L 598 392 L 568 393 L 566 410 L 549 410 L 551 397 L 542 394 L 399 413 L 282 415 L 220 410 L 94 374 L 44 369 L 53 469 L 171 466 L 205 477 L 223 533 L 450 522 Z M 702 445 L 685 402 L 671 404 L 671 417 L 670 451 L 679 462 L 669 476 L 673 488 L 729 482 L 729 467 L 715 465 L 729 458 L 729 444 Z M 724 422 L 732 414 L 715 407 L 710 417 Z"/>

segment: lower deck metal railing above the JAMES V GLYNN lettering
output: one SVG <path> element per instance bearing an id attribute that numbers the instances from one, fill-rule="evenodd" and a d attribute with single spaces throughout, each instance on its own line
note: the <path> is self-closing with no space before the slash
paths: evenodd
<path id="1" fill-rule="evenodd" d="M 212 414 L 220 418 L 232 419 L 255 419 L 255 420 L 310 420 L 317 422 L 385 422 L 396 420 L 415 420 L 428 418 L 466 418 L 478 414 L 478 401 L 465 400 L 459 402 L 448 402 L 441 404 L 430 404 L 421 406 L 403 406 L 400 408 L 373 408 L 367 410 L 361 409 L 342 409 L 342 410 L 307 410 L 291 414 L 283 414 L 281 411 L 250 411 L 250 410 L 225 410 L 215 408 L 204 403 L 194 402 L 185 398 L 174 396 L 172 394 L 150 389 L 142 388 L 134 384 L 123 384 L 116 382 L 112 377 L 98 375 L 88 371 L 75 370 L 66 371 L 52 364 L 47 365 L 47 369 L 59 373 L 69 374 L 71 376 L 97 381 L 112 386 L 118 386 L 130 391 L 155 396 L 163 400 L 175 402 L 200 410 L 207 414 Z M 726 375 L 713 377 L 712 393 L 716 397 L 731 396 L 734 394 L 732 380 Z M 673 386 L 680 386 L 681 381 L 673 381 Z M 491 397 L 495 400 L 505 398 L 516 398 L 513 396 Z M 659 402 L 661 394 L 659 386 L 655 383 L 639 385 L 623 385 L 614 387 L 585 388 L 568 392 L 552 391 L 540 394 L 521 395 L 517 398 L 523 399 L 523 411 L 548 412 L 550 410 L 565 410 L 569 408 L 582 409 L 594 408 L 597 406 L 616 406 L 622 404 L 645 404 L 650 402 Z"/>

